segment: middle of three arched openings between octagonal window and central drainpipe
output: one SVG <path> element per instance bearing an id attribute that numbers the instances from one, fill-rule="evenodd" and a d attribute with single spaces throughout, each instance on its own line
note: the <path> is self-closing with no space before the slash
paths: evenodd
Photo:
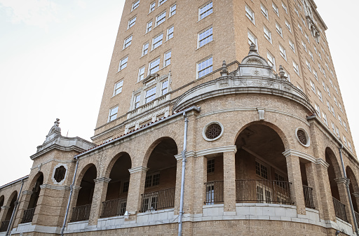
<path id="1" fill-rule="evenodd" d="M 116 160 L 117 159 L 117 160 Z M 123 216 L 126 212 L 128 187 L 130 186 L 131 158 L 128 153 L 120 153 L 114 158 L 109 174 L 106 200 L 102 202 L 102 214 L 100 217 Z M 110 164 L 111 165 L 111 164 Z"/>

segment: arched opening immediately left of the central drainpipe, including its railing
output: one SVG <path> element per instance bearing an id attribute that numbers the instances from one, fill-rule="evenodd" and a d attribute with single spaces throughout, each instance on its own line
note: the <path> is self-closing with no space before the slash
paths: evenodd
<path id="1" fill-rule="evenodd" d="M 175 207 L 177 172 L 177 144 L 173 139 L 163 138 L 156 145 L 147 162 L 148 171 L 141 195 L 140 211 L 156 211 Z"/>

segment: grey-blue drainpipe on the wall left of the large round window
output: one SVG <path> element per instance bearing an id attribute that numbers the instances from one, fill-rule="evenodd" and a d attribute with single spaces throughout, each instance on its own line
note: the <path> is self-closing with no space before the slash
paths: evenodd
<path id="1" fill-rule="evenodd" d="M 186 172 L 186 151 L 187 151 L 187 126 L 188 118 L 186 112 L 184 116 L 184 137 L 183 137 L 183 151 L 182 151 L 182 179 L 181 179 L 181 198 L 179 200 L 179 219 L 178 219 L 178 236 L 182 236 L 182 216 L 183 216 L 183 198 L 184 198 L 184 174 Z"/>

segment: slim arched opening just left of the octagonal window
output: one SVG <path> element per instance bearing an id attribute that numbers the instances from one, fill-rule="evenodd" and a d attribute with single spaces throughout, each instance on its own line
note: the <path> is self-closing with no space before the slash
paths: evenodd
<path id="1" fill-rule="evenodd" d="M 37 177 L 37 180 L 32 187 L 32 194 L 30 196 L 29 204 L 27 205 L 27 209 L 24 210 L 21 223 L 32 222 L 32 218 L 34 218 L 34 213 L 41 190 L 40 186 L 43 184 L 42 172 L 39 172 L 39 174 L 37 174 L 35 177 Z"/>

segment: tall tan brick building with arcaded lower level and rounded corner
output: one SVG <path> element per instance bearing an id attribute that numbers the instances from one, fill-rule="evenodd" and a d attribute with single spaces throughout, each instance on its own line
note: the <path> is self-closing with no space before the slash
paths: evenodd
<path id="1" fill-rule="evenodd" d="M 316 8 L 126 1 L 93 142 L 57 119 L 0 187 L 0 235 L 355 235 L 359 162 Z"/>

